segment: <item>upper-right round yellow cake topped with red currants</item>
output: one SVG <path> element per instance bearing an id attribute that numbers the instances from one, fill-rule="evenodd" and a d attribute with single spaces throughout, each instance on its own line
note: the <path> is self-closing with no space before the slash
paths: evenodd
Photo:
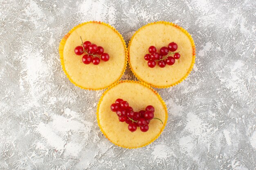
<path id="1" fill-rule="evenodd" d="M 169 46 L 171 43 L 176 44 L 176 49 L 173 50 L 173 46 Z M 153 63 L 145 61 L 152 57 L 148 52 L 151 50 L 150 46 L 154 46 L 157 51 L 162 50 L 163 53 L 167 53 L 164 51 L 166 49 L 171 50 L 170 60 L 164 58 L 165 61 L 161 63 L 161 59 L 154 59 L 156 62 L 152 61 Z M 178 53 L 177 58 L 175 53 Z M 178 60 L 174 60 L 173 57 Z M 191 35 L 180 26 L 164 21 L 150 23 L 141 27 L 132 36 L 128 47 L 128 61 L 132 72 L 139 80 L 153 87 L 167 88 L 182 82 L 191 72 L 195 63 L 195 44 Z"/>

